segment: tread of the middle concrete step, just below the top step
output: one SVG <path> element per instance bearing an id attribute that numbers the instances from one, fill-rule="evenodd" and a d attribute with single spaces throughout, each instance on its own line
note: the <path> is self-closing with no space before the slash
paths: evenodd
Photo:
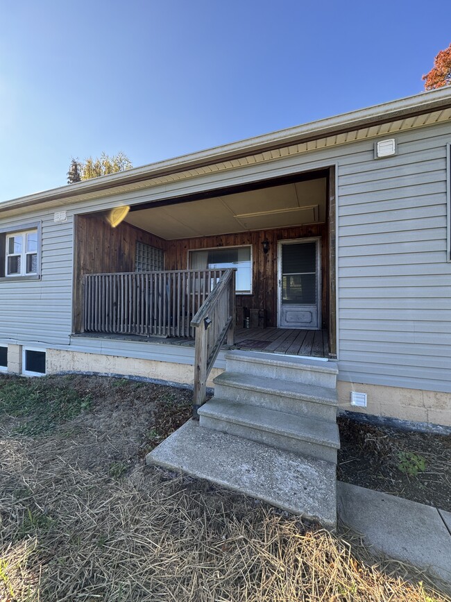
<path id="1" fill-rule="evenodd" d="M 254 376 L 244 372 L 222 372 L 214 378 L 215 385 L 231 385 L 240 389 L 250 389 L 264 393 L 273 393 L 305 401 L 316 401 L 328 405 L 337 405 L 337 389 L 319 387 L 318 385 L 305 385 L 294 381 L 285 381 L 280 378 L 267 378 Z"/>

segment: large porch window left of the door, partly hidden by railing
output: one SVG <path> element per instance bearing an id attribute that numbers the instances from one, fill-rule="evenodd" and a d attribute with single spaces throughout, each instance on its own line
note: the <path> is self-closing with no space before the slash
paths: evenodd
<path id="1" fill-rule="evenodd" d="M 221 246 L 216 249 L 189 251 L 189 269 L 237 269 L 235 290 L 237 294 L 252 293 L 252 247 Z"/>

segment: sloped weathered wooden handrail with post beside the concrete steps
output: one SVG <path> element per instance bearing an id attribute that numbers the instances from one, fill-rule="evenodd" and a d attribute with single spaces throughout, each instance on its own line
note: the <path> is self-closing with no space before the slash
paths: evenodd
<path id="1" fill-rule="evenodd" d="M 235 271 L 226 269 L 203 306 L 198 310 L 191 325 L 196 330 L 194 358 L 193 418 L 205 403 L 207 378 L 227 338 L 229 345 L 235 342 Z"/>

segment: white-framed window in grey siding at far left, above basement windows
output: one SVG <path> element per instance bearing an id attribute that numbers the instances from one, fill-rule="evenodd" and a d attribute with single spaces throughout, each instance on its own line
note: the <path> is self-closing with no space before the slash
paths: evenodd
<path id="1" fill-rule="evenodd" d="M 37 274 L 37 229 L 6 235 L 5 276 Z"/>

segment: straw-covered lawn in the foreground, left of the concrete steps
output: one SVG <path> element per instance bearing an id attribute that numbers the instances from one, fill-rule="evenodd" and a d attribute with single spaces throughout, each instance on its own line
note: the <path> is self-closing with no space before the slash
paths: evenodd
<path id="1" fill-rule="evenodd" d="M 146 467 L 190 401 L 112 378 L 0 376 L 2 602 L 450 600 L 349 533 Z"/>

